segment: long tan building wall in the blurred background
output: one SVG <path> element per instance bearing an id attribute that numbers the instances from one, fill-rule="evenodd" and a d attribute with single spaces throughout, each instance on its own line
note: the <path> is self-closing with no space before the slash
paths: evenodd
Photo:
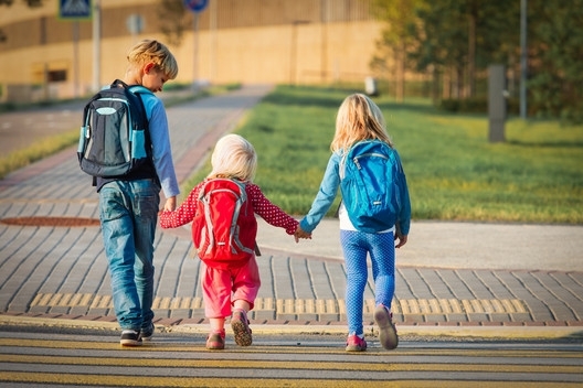
<path id="1" fill-rule="evenodd" d="M 91 4 L 92 19 L 60 19 L 66 2 Z M 121 77 L 128 48 L 146 37 L 165 42 L 177 56 L 178 83 L 363 83 L 371 75 L 381 24 L 370 0 L 209 0 L 203 11 L 187 11 L 176 21 L 165 17 L 162 2 L 0 7 L 0 100 L 88 95 Z M 179 44 L 162 25 L 184 25 Z"/>

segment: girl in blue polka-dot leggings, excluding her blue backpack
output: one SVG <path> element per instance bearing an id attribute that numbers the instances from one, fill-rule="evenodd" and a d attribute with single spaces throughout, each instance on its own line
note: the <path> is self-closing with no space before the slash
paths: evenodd
<path id="1" fill-rule="evenodd" d="M 336 120 L 336 133 L 330 149 L 332 154 L 324 174 L 320 188 L 310 211 L 300 220 L 295 233 L 297 238 L 310 238 L 336 198 L 341 185 L 340 164 L 342 158 L 354 146 L 364 141 L 380 141 L 391 148 L 391 163 L 395 163 L 395 176 L 391 182 L 398 182 L 401 208 L 398 211 L 396 223 L 392 227 L 371 231 L 357 228 L 348 215 L 347 207 L 354 198 L 342 197 L 339 208 L 340 244 L 344 256 L 347 270 L 346 308 L 348 320 L 347 352 L 363 352 L 367 349 L 362 325 L 363 293 L 367 285 L 367 257 L 370 256 L 372 276 L 375 284 L 374 321 L 379 326 L 380 343 L 386 349 L 398 346 L 399 337 L 392 322 L 391 302 L 394 295 L 395 247 L 400 248 L 407 241 L 411 223 L 411 204 L 406 180 L 400 158 L 385 129 L 381 109 L 367 96 L 353 94 L 348 96 L 340 106 Z M 379 176 L 379 180 L 381 177 Z M 375 180 L 377 183 L 380 182 Z M 359 203 L 359 206 L 360 203 Z M 391 224 L 392 225 L 392 224 Z M 369 229 L 367 227 L 367 229 Z M 396 241 L 396 246 L 395 246 Z"/>

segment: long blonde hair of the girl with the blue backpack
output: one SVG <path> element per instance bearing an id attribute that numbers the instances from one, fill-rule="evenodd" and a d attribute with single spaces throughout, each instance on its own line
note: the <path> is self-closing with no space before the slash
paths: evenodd
<path id="1" fill-rule="evenodd" d="M 384 117 L 377 104 L 359 93 L 348 96 L 336 116 L 336 132 L 330 150 L 332 152 L 347 151 L 361 140 L 372 139 L 384 141 L 393 147 L 385 129 Z"/>

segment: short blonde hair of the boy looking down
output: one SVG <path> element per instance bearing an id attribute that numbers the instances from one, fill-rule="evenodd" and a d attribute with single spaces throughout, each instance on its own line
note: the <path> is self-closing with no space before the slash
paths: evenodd
<path id="1" fill-rule="evenodd" d="M 170 79 L 174 79 L 178 75 L 178 63 L 174 56 L 166 45 L 155 40 L 144 40 L 136 44 L 129 51 L 127 60 L 134 65 L 151 62 L 156 65 L 156 69 Z"/>

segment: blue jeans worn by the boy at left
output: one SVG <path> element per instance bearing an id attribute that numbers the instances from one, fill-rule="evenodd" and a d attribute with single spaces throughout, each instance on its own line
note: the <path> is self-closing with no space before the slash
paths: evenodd
<path id="1" fill-rule="evenodd" d="M 159 184 L 149 179 L 114 181 L 99 191 L 105 255 L 121 330 L 146 328 L 153 319 L 153 238 L 159 193 Z"/>

